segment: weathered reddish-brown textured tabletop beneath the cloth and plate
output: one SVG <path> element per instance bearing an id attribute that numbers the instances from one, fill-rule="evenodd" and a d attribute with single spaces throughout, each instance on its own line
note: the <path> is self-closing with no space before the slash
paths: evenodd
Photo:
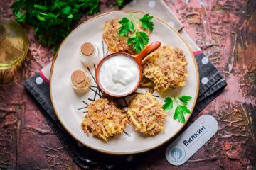
<path id="1" fill-rule="evenodd" d="M 11 1 L 1 2 L 3 15 L 12 17 Z M 102 13 L 115 9 L 107 8 L 110 4 L 101 3 Z M 166 162 L 164 145 L 148 152 L 136 169 L 255 169 L 256 1 L 169 0 L 166 4 L 223 72 L 228 86 L 198 115 L 210 114 L 218 120 L 217 135 L 186 164 L 177 167 Z M 85 20 L 87 16 L 79 23 Z M 13 79 L 0 74 L 0 169 L 80 169 L 22 86 L 53 60 L 52 49 L 34 38 L 33 28 L 25 28 L 30 40 L 26 61 Z"/>

